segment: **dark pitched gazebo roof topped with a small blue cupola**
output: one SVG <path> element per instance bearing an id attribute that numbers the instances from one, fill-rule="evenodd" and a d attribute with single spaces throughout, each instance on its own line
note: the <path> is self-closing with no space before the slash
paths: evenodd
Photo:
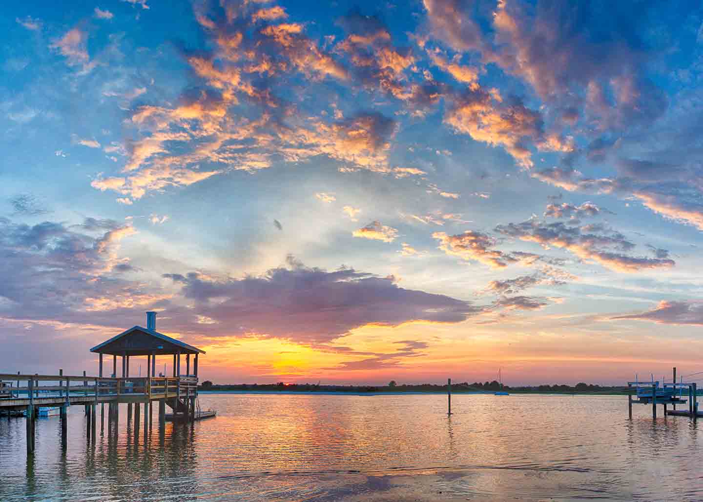
<path id="1" fill-rule="evenodd" d="M 147 312 L 147 324 L 149 328 L 133 326 L 90 351 L 109 355 L 205 354 L 205 350 L 156 331 L 156 312 Z"/>

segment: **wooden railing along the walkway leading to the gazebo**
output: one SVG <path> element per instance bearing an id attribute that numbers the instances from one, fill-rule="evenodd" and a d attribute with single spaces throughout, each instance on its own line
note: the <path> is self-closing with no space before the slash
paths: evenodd
<path id="1" fill-rule="evenodd" d="M 33 402 L 39 398 L 83 397 L 107 401 L 129 397 L 178 397 L 193 395 L 198 388 L 198 378 L 181 377 L 125 377 L 112 378 L 86 375 L 26 375 L 0 374 L 0 406 L 10 399 Z M 180 392 L 179 392 L 180 389 Z M 112 399 L 111 399 L 112 398 Z"/>

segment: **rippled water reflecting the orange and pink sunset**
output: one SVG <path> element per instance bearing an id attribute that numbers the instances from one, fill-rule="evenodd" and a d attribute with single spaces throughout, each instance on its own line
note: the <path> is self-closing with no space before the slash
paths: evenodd
<path id="1" fill-rule="evenodd" d="M 142 425 L 120 409 L 96 444 L 82 407 L 37 420 L 27 461 L 25 421 L 0 419 L 0 500 L 702 500 L 700 425 L 652 421 L 626 397 L 453 395 L 201 395 L 217 418 L 157 416 Z M 98 407 L 99 409 L 99 407 Z M 107 414 L 107 409 L 105 409 Z"/>

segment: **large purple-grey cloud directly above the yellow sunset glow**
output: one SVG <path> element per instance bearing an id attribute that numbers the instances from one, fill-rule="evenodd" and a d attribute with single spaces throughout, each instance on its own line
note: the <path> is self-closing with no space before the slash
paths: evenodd
<path id="1" fill-rule="evenodd" d="M 398 326 L 411 321 L 462 322 L 478 309 L 449 296 L 403 289 L 392 277 L 351 268 L 333 272 L 289 259 L 262 276 L 242 279 L 170 274 L 197 312 L 242 333 L 329 343 L 366 324 Z M 276 315 L 271 315 L 276 312 Z"/>

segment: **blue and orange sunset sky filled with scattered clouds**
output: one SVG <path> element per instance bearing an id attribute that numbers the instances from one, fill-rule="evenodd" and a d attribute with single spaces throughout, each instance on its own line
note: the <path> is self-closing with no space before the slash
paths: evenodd
<path id="1" fill-rule="evenodd" d="M 216 383 L 703 370 L 699 2 L 4 12 L 0 372 L 147 310 Z"/>

